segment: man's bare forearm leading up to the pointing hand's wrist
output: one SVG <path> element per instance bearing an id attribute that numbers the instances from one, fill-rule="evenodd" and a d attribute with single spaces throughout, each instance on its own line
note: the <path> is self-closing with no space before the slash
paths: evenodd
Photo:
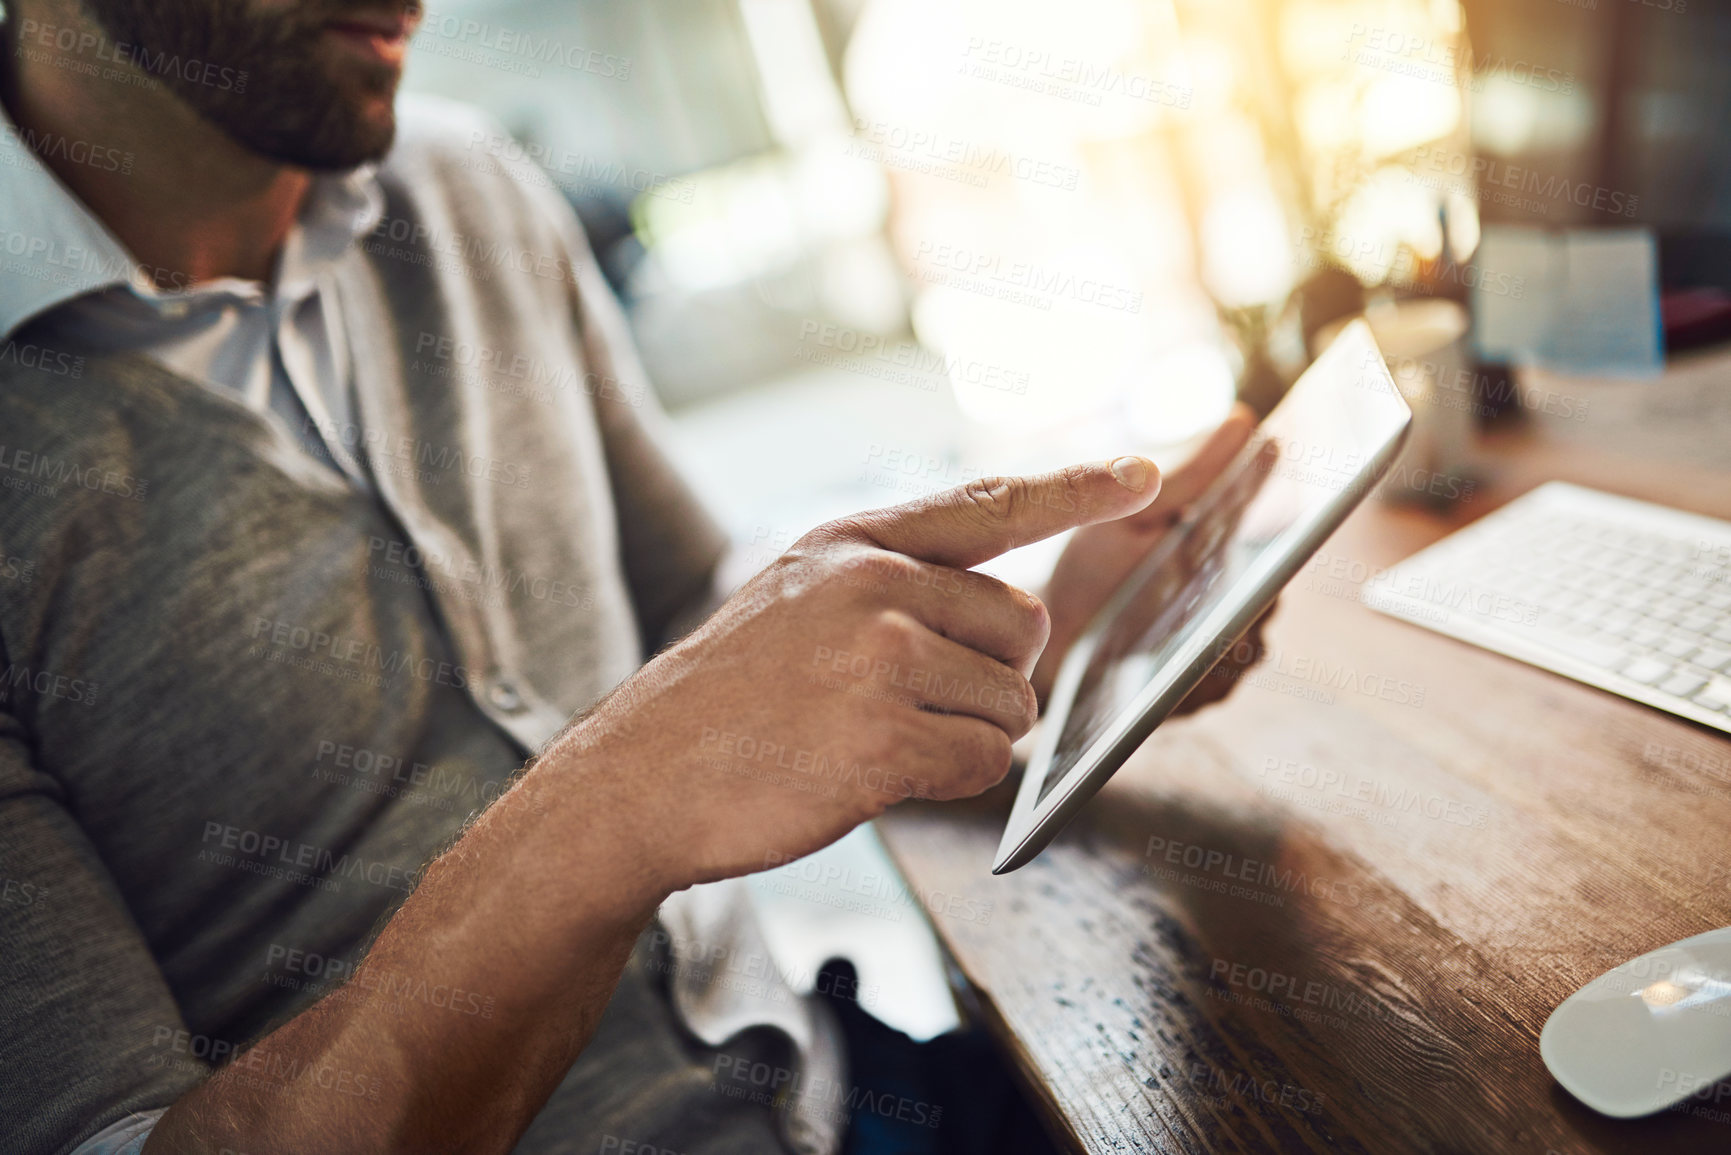
<path id="1" fill-rule="evenodd" d="M 549 752 L 341 989 L 175 1103 L 145 1153 L 511 1150 L 668 894 L 623 781 Z"/>

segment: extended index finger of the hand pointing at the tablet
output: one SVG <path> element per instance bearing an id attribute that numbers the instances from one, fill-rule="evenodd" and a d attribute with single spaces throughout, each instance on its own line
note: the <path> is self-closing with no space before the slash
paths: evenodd
<path id="1" fill-rule="evenodd" d="M 1155 462 L 1115 457 L 1026 478 L 980 478 L 848 521 L 881 549 L 969 570 L 1052 533 L 1129 516 L 1158 492 Z"/>

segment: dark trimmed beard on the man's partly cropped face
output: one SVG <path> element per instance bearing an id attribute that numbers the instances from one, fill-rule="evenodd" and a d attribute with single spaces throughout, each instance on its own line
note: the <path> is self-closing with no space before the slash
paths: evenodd
<path id="1" fill-rule="evenodd" d="M 412 12 L 417 0 L 303 0 L 272 12 L 242 0 L 83 2 L 104 33 L 132 45 L 140 71 L 260 156 L 344 170 L 391 147 L 400 69 L 332 61 L 320 36 L 344 14 Z"/>

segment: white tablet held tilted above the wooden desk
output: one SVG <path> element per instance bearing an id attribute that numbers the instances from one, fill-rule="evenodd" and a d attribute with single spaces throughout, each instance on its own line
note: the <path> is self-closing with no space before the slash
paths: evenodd
<path id="1" fill-rule="evenodd" d="M 1065 658 L 997 847 L 1030 862 L 1267 610 L 1381 478 L 1412 410 L 1347 326 Z"/>

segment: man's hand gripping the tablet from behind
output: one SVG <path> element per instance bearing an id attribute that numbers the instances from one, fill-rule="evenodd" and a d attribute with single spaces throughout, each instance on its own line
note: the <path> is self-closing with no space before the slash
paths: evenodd
<path id="1" fill-rule="evenodd" d="M 1179 523 L 1186 507 L 1213 483 L 1220 471 L 1238 455 L 1257 428 L 1255 414 L 1243 403 L 1234 405 L 1226 421 L 1208 435 L 1208 440 L 1182 466 L 1172 471 L 1160 497 L 1132 516 L 1092 525 L 1077 532 L 1058 558 L 1052 578 L 1046 587 L 1046 604 L 1052 615 L 1052 634 L 1033 672 L 1033 689 L 1040 701 L 1058 677 L 1058 667 L 1070 653 L 1071 642 L 1087 629 L 1094 613 L 1130 575 L 1130 570 L 1148 556 L 1167 532 Z M 1248 644 L 1234 646 L 1224 663 L 1253 665 L 1262 648 L 1262 620 L 1245 636 Z M 1241 656 L 1248 656 L 1248 661 Z M 1181 713 L 1219 701 L 1231 691 L 1234 679 L 1207 677 L 1179 707 Z"/>

